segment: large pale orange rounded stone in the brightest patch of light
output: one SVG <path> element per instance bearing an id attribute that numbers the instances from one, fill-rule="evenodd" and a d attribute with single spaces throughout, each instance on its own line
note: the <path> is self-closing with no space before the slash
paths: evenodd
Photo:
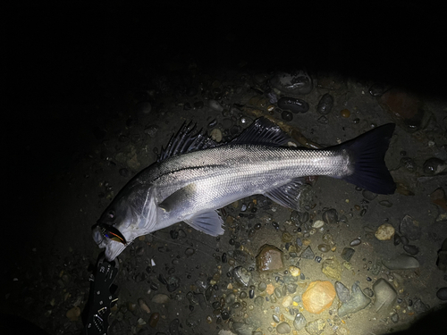
<path id="1" fill-rule="evenodd" d="M 335 289 L 330 281 L 312 281 L 301 298 L 308 312 L 320 314 L 332 306 L 335 295 Z"/>

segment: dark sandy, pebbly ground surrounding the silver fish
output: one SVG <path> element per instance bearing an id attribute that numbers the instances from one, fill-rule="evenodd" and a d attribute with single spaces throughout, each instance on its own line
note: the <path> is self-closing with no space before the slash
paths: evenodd
<path id="1" fill-rule="evenodd" d="M 291 210 L 254 196 L 224 208 L 225 233 L 217 239 L 181 222 L 135 240 L 119 256 L 119 299 L 109 334 L 275 334 L 280 322 L 274 317 L 288 322 L 290 333 L 308 334 L 284 316 L 296 314 L 293 309 L 308 322 L 324 320 L 321 334 L 327 335 L 382 335 L 418 320 L 427 334 L 445 331 L 436 314 L 445 301 L 436 292 L 447 281 L 436 259 L 447 222 L 430 195 L 445 188 L 447 178 L 423 168 L 429 158 L 447 160 L 445 58 L 437 38 L 444 34 L 434 13 L 410 7 L 362 18 L 273 6 L 244 14 L 107 7 L 21 8 L 11 15 L 2 122 L 2 314 L 20 316 L 48 334 L 79 334 L 76 313 L 86 306 L 89 275 L 101 251 L 91 226 L 114 195 L 156 161 L 184 121 L 197 122 L 208 134 L 218 129 L 225 139 L 268 115 L 325 147 L 397 122 L 385 161 L 401 192 L 366 200 L 354 185 L 319 178 L 302 211 L 311 221 L 294 222 Z M 293 97 L 305 100 L 309 110 L 284 120 L 283 110 L 268 101 L 268 80 L 278 71 L 302 69 L 312 90 Z M 370 93 L 375 84 L 415 97 L 422 115 L 415 121 L 418 131 L 408 131 L 408 115 L 384 107 L 382 94 Z M 325 93 L 334 104 L 322 119 L 316 107 Z M 410 169 L 402 157 L 412 160 Z M 329 208 L 340 221 L 313 229 Z M 406 215 L 421 229 L 410 243 L 420 265 L 390 271 L 382 262 L 405 251 L 374 232 L 387 222 L 401 234 Z M 325 233 L 333 236 L 334 251 L 318 250 Z M 305 247 L 297 238 L 308 241 L 321 262 L 301 258 Z M 311 281 L 334 284 L 322 264 L 330 257 L 342 264 L 342 250 L 354 239 L 361 242 L 352 247 L 350 268 L 341 267 L 340 281 L 349 289 L 359 281 L 362 290 L 381 278 L 390 282 L 398 300 L 387 314 L 376 314 L 371 304 L 339 318 L 338 297 L 322 314 L 311 314 L 301 303 L 285 307 L 283 297 L 274 302 L 259 289 L 260 283 L 282 289 L 290 265 L 304 278 L 286 296 L 300 296 Z M 258 272 L 255 257 L 265 244 L 283 251 L 282 270 Z M 234 279 L 235 266 L 249 270 L 249 287 Z M 178 288 L 167 289 L 169 278 Z M 262 306 L 256 297 L 263 297 Z M 237 322 L 247 324 L 245 332 L 235 329 Z M 21 327 L 7 323 L 15 328 L 5 333 Z M 410 333 L 423 333 L 421 328 Z"/>

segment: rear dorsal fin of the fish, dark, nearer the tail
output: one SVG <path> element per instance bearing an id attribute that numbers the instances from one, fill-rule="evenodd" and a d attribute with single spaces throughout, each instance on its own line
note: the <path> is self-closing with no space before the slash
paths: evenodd
<path id="1" fill-rule="evenodd" d="M 274 147 L 286 147 L 291 140 L 278 125 L 260 117 L 242 131 L 240 136 L 232 139 L 232 144 L 257 144 Z"/>

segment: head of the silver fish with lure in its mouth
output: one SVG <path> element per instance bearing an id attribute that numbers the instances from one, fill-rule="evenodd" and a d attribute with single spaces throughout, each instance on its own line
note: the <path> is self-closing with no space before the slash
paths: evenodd
<path id="1" fill-rule="evenodd" d="M 105 258 L 111 262 L 133 239 L 156 230 L 155 226 L 156 205 L 152 189 L 124 189 L 92 227 L 92 236 L 98 247 L 105 247 Z"/>

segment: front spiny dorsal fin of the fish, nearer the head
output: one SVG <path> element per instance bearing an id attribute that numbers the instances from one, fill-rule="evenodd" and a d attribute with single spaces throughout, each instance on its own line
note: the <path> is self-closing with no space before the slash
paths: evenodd
<path id="1" fill-rule="evenodd" d="M 201 130 L 199 130 L 198 133 L 193 134 L 194 130 L 196 130 L 196 126 L 196 124 L 192 125 L 192 121 L 190 121 L 188 125 L 186 124 L 186 121 L 183 122 L 181 129 L 169 140 L 166 148 L 164 149 L 164 147 L 162 147 L 157 162 L 164 161 L 166 158 L 172 157 L 173 155 L 181 155 L 191 151 L 206 149 L 207 147 L 215 147 L 217 145 L 214 140 L 202 134 Z"/>

